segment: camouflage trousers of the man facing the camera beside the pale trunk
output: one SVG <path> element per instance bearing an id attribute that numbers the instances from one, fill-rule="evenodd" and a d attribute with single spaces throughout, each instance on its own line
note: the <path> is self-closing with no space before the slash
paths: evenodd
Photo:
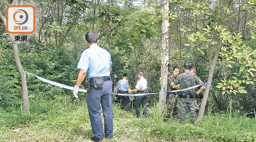
<path id="1" fill-rule="evenodd" d="M 170 93 L 167 100 L 167 113 L 166 117 L 170 118 L 171 115 L 176 114 L 175 106 L 177 105 L 177 94 Z"/>

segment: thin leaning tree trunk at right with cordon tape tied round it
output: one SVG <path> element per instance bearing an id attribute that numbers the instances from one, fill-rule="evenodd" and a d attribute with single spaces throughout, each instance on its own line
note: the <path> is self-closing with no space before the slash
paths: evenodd
<path id="1" fill-rule="evenodd" d="M 220 53 L 220 49 L 221 49 L 221 39 L 218 43 L 218 47 L 217 47 L 216 53 L 214 55 L 212 64 L 210 65 L 210 72 L 209 72 L 209 75 L 208 75 L 208 82 L 212 82 L 213 71 L 214 71 L 215 65 L 217 63 L 218 53 Z M 197 122 L 199 122 L 201 119 L 203 119 L 204 109 L 205 109 L 205 105 L 207 103 L 207 98 L 208 98 L 209 91 L 210 91 L 210 86 L 207 85 L 206 89 L 205 89 L 205 92 L 204 92 L 204 98 L 203 98 L 203 101 L 201 103 L 199 115 L 197 116 L 197 119 L 196 119 Z"/>

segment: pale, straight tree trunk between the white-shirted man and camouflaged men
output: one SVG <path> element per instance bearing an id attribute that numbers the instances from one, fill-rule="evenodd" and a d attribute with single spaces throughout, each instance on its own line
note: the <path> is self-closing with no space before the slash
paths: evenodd
<path id="1" fill-rule="evenodd" d="M 162 66 L 161 66 L 161 90 L 160 92 L 167 90 L 167 76 L 168 76 L 168 46 L 169 46 L 169 2 L 167 0 L 163 1 L 163 14 L 165 18 L 162 23 Z M 166 103 L 166 93 L 159 94 L 159 108 L 160 110 L 164 110 L 164 106 Z"/>

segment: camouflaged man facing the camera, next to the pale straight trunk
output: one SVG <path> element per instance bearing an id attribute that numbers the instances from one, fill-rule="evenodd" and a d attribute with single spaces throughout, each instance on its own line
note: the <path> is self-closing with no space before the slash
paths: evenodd
<path id="1" fill-rule="evenodd" d="M 168 77 L 168 91 L 173 91 L 179 89 L 180 85 L 174 85 L 174 81 L 177 76 L 179 76 L 180 68 L 178 66 L 174 66 L 172 68 L 173 76 Z M 177 93 L 168 93 L 167 94 L 167 118 L 170 118 L 172 114 L 176 114 L 175 106 L 177 102 Z"/>

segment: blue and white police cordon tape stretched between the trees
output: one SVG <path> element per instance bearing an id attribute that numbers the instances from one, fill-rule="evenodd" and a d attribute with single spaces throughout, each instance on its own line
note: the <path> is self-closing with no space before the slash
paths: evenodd
<path id="1" fill-rule="evenodd" d="M 58 82 L 47 80 L 46 78 L 36 76 L 35 74 L 32 74 L 32 73 L 28 73 L 28 72 L 26 72 L 26 73 L 30 74 L 31 76 L 34 76 L 34 77 L 38 78 L 39 80 L 41 80 L 43 82 L 49 83 L 51 85 L 55 85 L 55 86 L 58 86 L 58 87 L 61 87 L 61 88 L 69 89 L 69 90 L 75 90 L 75 87 L 71 87 L 71 86 L 64 85 L 64 84 L 61 84 L 61 83 L 58 83 Z M 200 87 L 200 86 L 203 86 L 203 85 L 210 85 L 210 86 L 212 85 L 207 80 L 205 82 L 206 83 L 203 83 L 203 84 L 200 84 L 200 85 L 196 85 L 196 86 L 192 86 L 192 87 L 188 87 L 188 88 L 185 88 L 185 89 L 174 90 L 174 91 L 164 91 L 164 92 L 160 92 L 160 93 L 175 93 L 175 92 L 179 92 L 179 91 L 185 91 L 185 90 L 189 90 L 189 89 L 194 89 L 194 88 L 197 88 L 197 87 Z M 79 89 L 79 91 L 80 92 L 87 92 L 87 90 L 85 90 L 85 89 Z M 160 94 L 160 93 L 144 93 L 144 94 L 118 94 L 118 93 L 112 93 L 112 94 L 113 95 L 134 96 L 134 97 L 136 97 L 136 96 Z"/>

